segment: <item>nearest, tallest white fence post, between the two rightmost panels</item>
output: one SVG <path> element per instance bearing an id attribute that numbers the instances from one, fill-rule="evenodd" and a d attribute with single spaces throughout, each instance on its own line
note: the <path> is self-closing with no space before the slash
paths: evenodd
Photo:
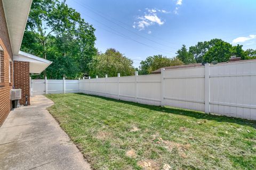
<path id="1" fill-rule="evenodd" d="M 204 64 L 204 112 L 210 113 L 210 64 Z"/>

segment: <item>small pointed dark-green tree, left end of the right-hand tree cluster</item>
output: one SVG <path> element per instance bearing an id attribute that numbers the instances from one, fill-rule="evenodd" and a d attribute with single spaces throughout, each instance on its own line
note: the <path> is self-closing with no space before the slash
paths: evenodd
<path id="1" fill-rule="evenodd" d="M 186 45 L 182 45 L 181 49 L 177 51 L 177 58 L 185 64 L 195 63 L 195 59 L 192 53 L 187 50 Z"/>

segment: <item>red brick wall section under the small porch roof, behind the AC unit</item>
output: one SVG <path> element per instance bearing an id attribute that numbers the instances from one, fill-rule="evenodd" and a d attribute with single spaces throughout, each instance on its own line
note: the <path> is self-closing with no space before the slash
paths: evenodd
<path id="1" fill-rule="evenodd" d="M 25 61 L 14 61 L 13 63 L 14 69 L 14 88 L 21 89 L 21 100 L 19 100 L 20 104 L 25 104 L 26 98 L 28 95 L 28 105 L 30 105 L 29 98 L 29 62 Z"/>

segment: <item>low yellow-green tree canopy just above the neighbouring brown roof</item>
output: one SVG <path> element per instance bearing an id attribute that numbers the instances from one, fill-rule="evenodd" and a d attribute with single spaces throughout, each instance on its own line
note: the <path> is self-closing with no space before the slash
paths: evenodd
<path id="1" fill-rule="evenodd" d="M 148 56 L 145 61 L 140 62 L 140 75 L 147 75 L 150 72 L 162 67 L 178 66 L 183 64 L 178 58 L 167 58 L 163 55 Z"/>

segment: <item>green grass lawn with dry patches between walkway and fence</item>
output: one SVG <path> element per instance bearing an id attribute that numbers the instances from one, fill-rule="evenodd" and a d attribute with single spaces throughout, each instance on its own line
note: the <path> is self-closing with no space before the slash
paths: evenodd
<path id="1" fill-rule="evenodd" d="M 85 94 L 49 111 L 94 169 L 256 169 L 256 122 Z"/>

